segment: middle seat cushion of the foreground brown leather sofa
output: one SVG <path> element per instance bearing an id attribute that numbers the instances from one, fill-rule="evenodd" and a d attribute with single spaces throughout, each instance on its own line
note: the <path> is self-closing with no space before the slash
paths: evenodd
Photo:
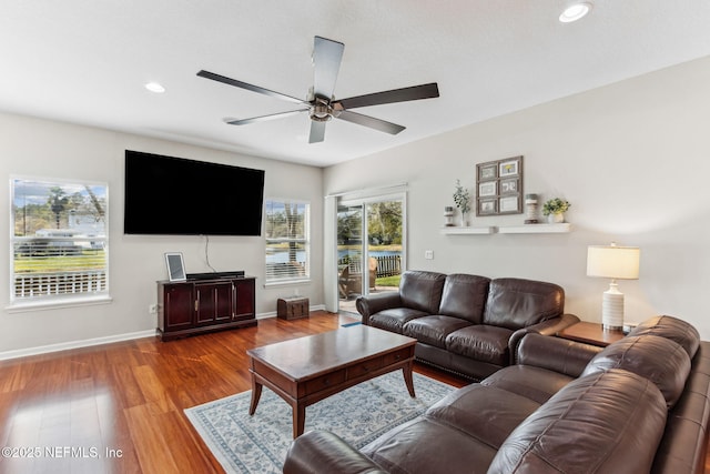
<path id="1" fill-rule="evenodd" d="M 539 406 L 513 392 L 475 383 L 445 396 L 425 416 L 498 448 Z"/>

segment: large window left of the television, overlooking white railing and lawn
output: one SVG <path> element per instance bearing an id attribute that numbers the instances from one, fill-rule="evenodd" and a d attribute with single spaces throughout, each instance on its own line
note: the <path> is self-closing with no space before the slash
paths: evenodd
<path id="1" fill-rule="evenodd" d="M 108 185 L 11 179 L 11 304 L 109 293 Z"/>

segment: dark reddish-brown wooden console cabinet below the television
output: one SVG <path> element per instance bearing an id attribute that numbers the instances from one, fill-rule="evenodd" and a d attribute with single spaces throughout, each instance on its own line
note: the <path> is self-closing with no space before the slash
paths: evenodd
<path id="1" fill-rule="evenodd" d="M 253 276 L 158 282 L 158 336 L 171 341 L 193 334 L 256 325 Z"/>

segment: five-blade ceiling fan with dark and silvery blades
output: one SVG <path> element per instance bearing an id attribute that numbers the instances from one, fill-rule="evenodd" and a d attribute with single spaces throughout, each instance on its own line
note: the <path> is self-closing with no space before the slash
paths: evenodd
<path id="1" fill-rule="evenodd" d="M 246 82 L 237 81 L 236 79 L 215 74 L 214 72 L 205 70 L 197 72 L 197 75 L 302 105 L 302 108 L 296 110 L 273 113 L 270 115 L 242 120 L 226 120 L 226 123 L 230 125 L 245 125 L 247 123 L 263 122 L 301 112 L 308 112 L 308 115 L 311 117 L 311 135 L 308 138 L 308 143 L 322 142 L 325 139 L 325 123 L 333 118 L 356 123 L 358 125 L 369 127 L 371 129 L 379 130 L 385 133 L 397 134 L 403 131 L 405 127 L 353 112 L 351 109 L 439 97 L 438 85 L 436 82 L 432 82 L 428 84 L 413 85 L 409 88 L 393 89 L 389 91 L 335 100 L 333 91 L 335 89 L 338 70 L 341 69 L 341 60 L 343 59 L 344 49 L 345 44 L 341 42 L 315 37 L 313 46 L 314 81 L 313 88 L 308 92 L 308 98 L 306 100 L 260 88 L 258 85 L 247 84 Z"/>

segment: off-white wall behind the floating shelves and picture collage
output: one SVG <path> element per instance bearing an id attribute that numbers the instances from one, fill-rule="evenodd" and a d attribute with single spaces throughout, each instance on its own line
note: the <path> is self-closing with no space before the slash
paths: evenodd
<path id="1" fill-rule="evenodd" d="M 324 191 L 406 181 L 410 269 L 551 281 L 565 288 L 567 311 L 586 321 L 600 321 L 608 288 L 586 276 L 587 245 L 639 245 L 640 279 L 619 282 L 626 321 L 672 314 L 707 340 L 709 105 L 710 58 L 703 58 L 328 168 Z M 456 179 L 473 193 L 476 163 L 520 154 L 525 192 L 567 198 L 574 231 L 442 235 Z M 435 259 L 425 260 L 425 250 Z"/>

